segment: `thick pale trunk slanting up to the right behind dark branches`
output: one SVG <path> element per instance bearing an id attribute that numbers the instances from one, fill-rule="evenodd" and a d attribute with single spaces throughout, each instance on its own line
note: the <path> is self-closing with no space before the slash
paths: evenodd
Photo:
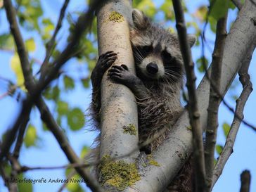
<path id="1" fill-rule="evenodd" d="M 238 18 L 226 37 L 224 46 L 222 79 L 219 88 L 224 96 L 231 82 L 241 68 L 245 56 L 250 53 L 250 48 L 255 49 L 256 33 L 252 18 L 256 18 L 255 1 L 245 1 L 245 5 L 238 13 Z M 205 128 L 207 122 L 207 105 L 209 103 L 210 83 L 204 77 L 197 89 L 198 108 L 200 119 Z M 125 191 L 162 191 L 176 176 L 184 162 L 191 155 L 192 132 L 190 129 L 188 112 L 185 110 L 177 123 L 172 128 L 166 141 L 153 153 L 153 158 L 160 167 L 149 165 L 141 168 L 141 180 Z M 142 162 L 143 163 L 143 162 Z M 141 166 L 142 167 L 142 166 Z"/>

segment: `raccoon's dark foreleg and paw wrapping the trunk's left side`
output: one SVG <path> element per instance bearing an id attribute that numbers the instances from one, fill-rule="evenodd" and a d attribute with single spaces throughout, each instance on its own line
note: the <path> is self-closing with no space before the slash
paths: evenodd
<path id="1" fill-rule="evenodd" d="M 101 109 L 101 80 L 102 77 L 108 68 L 115 62 L 117 59 L 117 53 L 114 51 L 108 51 L 103 53 L 95 65 L 94 70 L 91 72 L 91 84 L 92 84 L 92 103 L 91 107 L 94 111 L 94 119 L 97 122 L 99 120 L 99 111 Z"/>

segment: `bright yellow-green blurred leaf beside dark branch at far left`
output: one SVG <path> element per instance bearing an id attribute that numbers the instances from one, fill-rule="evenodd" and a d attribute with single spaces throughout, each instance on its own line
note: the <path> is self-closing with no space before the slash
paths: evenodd
<path id="1" fill-rule="evenodd" d="M 22 89 L 25 89 L 24 87 L 24 77 L 23 77 L 23 70 L 20 65 L 20 58 L 18 54 L 14 54 L 14 56 L 11 58 L 11 69 L 15 73 L 17 77 L 17 84 L 21 86 Z"/>

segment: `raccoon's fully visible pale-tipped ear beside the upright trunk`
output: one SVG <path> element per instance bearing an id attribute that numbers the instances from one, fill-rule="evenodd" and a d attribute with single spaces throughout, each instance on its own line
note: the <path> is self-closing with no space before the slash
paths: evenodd
<path id="1" fill-rule="evenodd" d="M 139 11 L 136 8 L 132 11 L 132 20 L 134 22 L 134 27 L 139 30 L 146 30 L 151 23 L 150 19 L 142 11 Z"/>

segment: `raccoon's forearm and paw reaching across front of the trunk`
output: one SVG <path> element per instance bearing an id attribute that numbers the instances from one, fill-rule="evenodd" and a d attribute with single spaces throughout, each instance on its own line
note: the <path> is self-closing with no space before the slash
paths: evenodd
<path id="1" fill-rule="evenodd" d="M 136 98 L 143 98 L 148 94 L 148 89 L 146 89 L 141 79 L 130 72 L 127 65 L 113 65 L 108 71 L 108 77 L 131 89 Z"/>

